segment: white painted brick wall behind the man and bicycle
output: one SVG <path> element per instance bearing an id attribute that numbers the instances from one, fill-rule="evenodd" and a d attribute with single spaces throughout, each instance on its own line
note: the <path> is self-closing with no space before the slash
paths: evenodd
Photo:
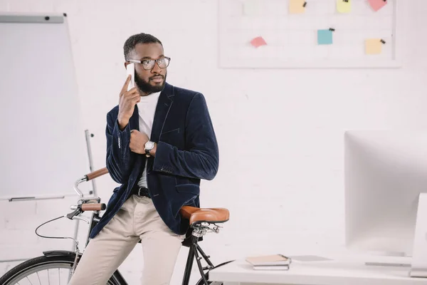
<path id="1" fill-rule="evenodd" d="M 201 191 L 202 207 L 231 212 L 221 233 L 201 244 L 217 263 L 343 249 L 343 131 L 427 126 L 427 1 L 400 2 L 399 70 L 221 70 L 213 0 L 0 0 L 0 11 L 68 14 L 83 122 L 95 134 L 95 168 L 105 166 L 105 115 L 125 78 L 124 41 L 142 31 L 163 41 L 172 57 L 169 83 L 204 93 L 218 136 L 220 170 Z M 107 201 L 115 183 L 102 177 L 97 187 Z M 1 202 L 0 259 L 69 248 L 35 237 L 33 229 L 74 201 Z M 65 221 L 54 228 L 71 230 Z M 130 284 L 138 284 L 141 253 L 138 245 L 120 267 Z M 185 258 L 182 249 L 172 284 L 180 284 Z M 11 265 L 0 264 L 0 274 Z"/>

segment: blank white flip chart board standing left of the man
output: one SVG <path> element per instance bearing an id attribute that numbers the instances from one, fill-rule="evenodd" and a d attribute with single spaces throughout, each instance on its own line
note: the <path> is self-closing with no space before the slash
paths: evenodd
<path id="1" fill-rule="evenodd" d="M 0 197 L 77 197 L 90 167 L 67 17 L 0 14 L 0 38 Z"/>

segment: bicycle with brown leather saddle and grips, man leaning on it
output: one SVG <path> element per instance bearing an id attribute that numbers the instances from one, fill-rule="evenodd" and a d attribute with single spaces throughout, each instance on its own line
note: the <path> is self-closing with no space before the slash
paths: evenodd
<path id="1" fill-rule="evenodd" d="M 77 182 L 75 182 L 74 189 L 80 196 L 80 199 L 78 200 L 77 205 L 71 207 L 73 212 L 70 212 L 69 214 L 65 214 L 64 216 L 56 217 L 55 219 L 51 219 L 48 222 L 44 222 L 43 224 L 39 225 L 36 228 L 36 234 L 39 237 L 46 237 L 41 234 L 38 234 L 37 230 L 40 227 L 42 227 L 44 224 L 53 222 L 62 217 L 67 217 L 68 219 L 71 219 L 71 220 L 75 219 L 77 221 L 83 220 L 89 225 L 88 234 L 85 241 L 85 246 L 88 246 L 90 242 L 90 232 L 92 232 L 96 224 L 100 222 L 100 211 L 106 209 L 106 205 L 103 203 L 100 203 L 99 197 L 90 197 L 90 198 L 83 197 L 83 193 L 80 192 L 80 190 L 78 189 L 78 185 L 82 182 L 88 182 L 89 180 L 93 180 L 96 177 L 105 175 L 107 172 L 108 172 L 107 169 L 103 168 L 95 172 L 91 172 L 88 175 L 85 175 L 84 177 L 80 178 Z M 204 212 L 206 210 L 210 211 L 209 212 L 210 214 L 197 215 L 197 213 L 200 214 L 200 212 Z M 91 212 L 90 218 L 80 217 L 80 214 L 87 211 Z M 196 258 L 196 263 L 201 274 L 201 279 L 197 282 L 196 285 L 209 285 L 209 281 L 208 281 L 209 271 L 211 271 L 211 269 L 214 269 L 218 266 L 228 264 L 232 260 L 226 261 L 222 264 L 214 266 L 214 264 L 212 264 L 212 262 L 209 259 L 210 257 L 207 256 L 199 246 L 199 240 L 207 232 L 218 233 L 219 227 L 216 223 L 223 223 L 228 221 L 228 217 L 229 217 L 228 210 L 226 209 L 224 211 L 219 209 L 204 209 L 202 211 L 199 211 L 198 208 L 185 206 L 181 209 L 180 213 L 182 214 L 182 217 L 184 219 L 189 219 L 189 222 L 191 222 L 190 224 L 191 235 L 189 237 L 187 236 L 184 242 L 182 242 L 182 244 L 185 247 L 189 247 L 189 253 L 186 259 L 186 266 L 184 270 L 184 277 L 182 279 L 182 285 L 189 285 L 189 279 L 191 276 L 191 269 L 194 264 L 194 258 Z M 212 213 L 214 213 L 214 217 L 216 218 L 214 219 L 211 218 Z M 216 221 L 216 222 L 212 222 L 212 221 Z M 65 264 L 66 268 L 70 268 L 70 272 L 68 274 L 68 280 L 70 280 L 70 277 L 73 276 L 75 272 L 76 266 L 78 266 L 78 261 L 80 260 L 80 257 L 83 256 L 83 253 L 81 253 L 78 248 L 77 238 L 76 237 L 48 237 L 48 238 L 73 239 L 73 241 L 75 242 L 74 251 L 72 252 L 72 251 L 54 250 L 54 251 L 43 252 L 44 257 L 36 257 L 26 261 L 25 263 L 19 264 L 18 266 L 15 266 L 13 269 L 9 270 L 4 276 L 0 276 L 0 279 L 6 282 L 9 282 L 10 280 L 15 281 L 14 278 L 21 278 L 21 279 L 28 278 L 28 276 L 31 274 L 34 274 L 34 272 L 38 272 L 37 269 L 46 270 L 44 269 L 44 266 L 46 266 L 46 264 L 53 264 L 53 266 L 59 265 L 58 267 L 53 267 L 53 268 L 63 268 L 63 265 Z M 203 267 L 201 265 L 201 259 L 204 259 L 204 261 L 206 261 L 207 266 Z M 25 275 L 25 274 L 29 274 L 29 275 Z M 120 274 L 118 269 L 116 269 L 115 272 L 110 277 L 109 284 L 127 285 L 127 282 L 125 281 L 123 276 Z M 218 284 L 222 284 L 222 282 L 211 283 L 211 285 L 214 285 L 214 284 L 218 285 Z"/>

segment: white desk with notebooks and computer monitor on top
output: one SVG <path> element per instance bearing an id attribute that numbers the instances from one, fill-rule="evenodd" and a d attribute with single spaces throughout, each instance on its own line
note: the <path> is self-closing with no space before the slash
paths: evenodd
<path id="1" fill-rule="evenodd" d="M 363 261 L 293 261 L 288 271 L 253 270 L 246 261 L 234 261 L 209 272 L 209 281 L 224 285 L 408 285 L 427 284 L 411 278 L 409 267 L 367 266 Z"/>

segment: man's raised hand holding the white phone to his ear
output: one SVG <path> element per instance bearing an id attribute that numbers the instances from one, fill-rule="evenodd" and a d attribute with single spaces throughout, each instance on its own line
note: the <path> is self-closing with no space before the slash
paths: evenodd
<path id="1" fill-rule="evenodd" d="M 119 115 L 117 120 L 119 122 L 120 130 L 124 130 L 129 123 L 130 117 L 132 117 L 135 110 L 135 104 L 141 100 L 141 95 L 136 87 L 127 91 L 127 86 L 130 82 L 130 76 L 127 76 L 125 85 L 120 91 L 119 98 Z"/>

